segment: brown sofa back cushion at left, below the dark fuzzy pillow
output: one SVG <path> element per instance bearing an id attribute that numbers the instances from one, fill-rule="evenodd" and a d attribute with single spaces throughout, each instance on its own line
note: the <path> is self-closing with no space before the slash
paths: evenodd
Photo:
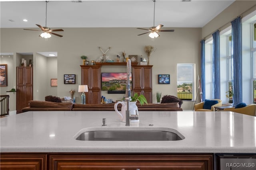
<path id="1" fill-rule="evenodd" d="M 28 106 L 36 108 L 46 108 L 46 107 L 57 107 L 57 108 L 70 108 L 72 109 L 72 103 L 59 103 L 59 102 L 45 102 L 38 100 L 30 100 Z"/>

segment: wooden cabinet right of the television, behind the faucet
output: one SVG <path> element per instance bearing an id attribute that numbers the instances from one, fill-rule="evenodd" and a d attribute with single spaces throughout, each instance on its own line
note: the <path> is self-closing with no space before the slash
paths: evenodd
<path id="1" fill-rule="evenodd" d="M 132 90 L 152 103 L 152 65 L 132 66 Z"/>

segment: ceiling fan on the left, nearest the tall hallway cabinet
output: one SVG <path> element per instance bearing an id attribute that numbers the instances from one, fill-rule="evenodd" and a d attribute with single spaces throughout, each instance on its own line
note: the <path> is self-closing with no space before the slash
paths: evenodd
<path id="1" fill-rule="evenodd" d="M 41 28 L 41 30 L 37 30 L 37 29 L 24 29 L 24 30 L 31 30 L 31 31 L 43 31 L 43 33 L 41 33 L 39 36 L 43 37 L 43 38 L 50 38 L 52 35 L 57 35 L 58 37 L 63 37 L 62 35 L 53 33 L 54 31 L 64 31 L 63 29 L 50 29 L 49 27 L 46 26 L 46 21 L 47 21 L 47 3 L 49 1 L 45 1 L 46 2 L 46 16 L 45 16 L 45 27 L 42 27 L 41 25 L 36 24 L 38 27 Z M 52 34 L 52 35 L 51 35 Z"/>

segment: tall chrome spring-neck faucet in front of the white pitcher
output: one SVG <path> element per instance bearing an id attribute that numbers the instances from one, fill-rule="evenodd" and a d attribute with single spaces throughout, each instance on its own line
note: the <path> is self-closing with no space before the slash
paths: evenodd
<path id="1" fill-rule="evenodd" d="M 139 119 L 139 115 L 136 112 L 136 115 L 131 115 L 131 111 L 130 111 L 130 101 L 132 100 L 131 98 L 131 89 L 130 89 L 130 74 L 131 74 L 131 70 L 132 70 L 132 66 L 131 66 L 131 60 L 128 59 L 127 61 L 127 84 L 126 84 L 126 91 L 125 91 L 125 98 L 124 101 L 127 102 L 126 106 L 126 114 L 125 114 L 125 119 L 126 119 L 126 126 L 130 126 L 131 125 L 131 120 L 138 120 Z"/>

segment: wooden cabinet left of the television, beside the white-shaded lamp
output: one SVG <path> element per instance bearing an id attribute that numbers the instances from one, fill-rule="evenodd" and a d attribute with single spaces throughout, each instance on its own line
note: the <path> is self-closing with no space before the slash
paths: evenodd
<path id="1" fill-rule="evenodd" d="M 86 92 L 86 104 L 100 104 L 101 94 L 101 80 L 100 80 L 101 66 L 81 66 L 81 83 L 88 85 Z"/>

